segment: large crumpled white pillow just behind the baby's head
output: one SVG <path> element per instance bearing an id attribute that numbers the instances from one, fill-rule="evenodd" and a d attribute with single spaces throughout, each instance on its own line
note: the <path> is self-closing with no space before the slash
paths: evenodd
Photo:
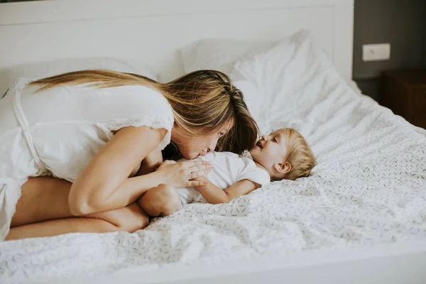
<path id="1" fill-rule="evenodd" d="M 262 133 L 283 126 L 301 131 L 302 125 L 315 125 L 304 122 L 310 119 L 315 103 L 324 100 L 329 84 L 346 84 L 326 53 L 305 30 L 262 52 L 241 58 L 230 77 L 244 93 Z"/>

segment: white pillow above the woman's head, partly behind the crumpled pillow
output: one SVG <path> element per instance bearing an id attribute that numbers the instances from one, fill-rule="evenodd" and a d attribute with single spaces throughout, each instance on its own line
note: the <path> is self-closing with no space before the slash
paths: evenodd
<path id="1" fill-rule="evenodd" d="M 236 60 L 273 45 L 271 41 L 248 41 L 235 39 L 202 39 L 180 50 L 185 73 L 211 69 L 229 75 Z"/>

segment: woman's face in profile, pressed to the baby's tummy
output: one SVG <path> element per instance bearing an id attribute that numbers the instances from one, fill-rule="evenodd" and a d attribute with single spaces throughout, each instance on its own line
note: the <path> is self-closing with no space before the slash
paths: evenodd
<path id="1" fill-rule="evenodd" d="M 232 121 L 222 126 L 218 131 L 204 136 L 190 136 L 189 133 L 175 126 L 172 130 L 172 140 L 179 147 L 183 158 L 192 160 L 199 155 L 205 155 L 212 152 L 216 148 L 219 138 L 228 133 L 229 129 L 234 125 Z"/>

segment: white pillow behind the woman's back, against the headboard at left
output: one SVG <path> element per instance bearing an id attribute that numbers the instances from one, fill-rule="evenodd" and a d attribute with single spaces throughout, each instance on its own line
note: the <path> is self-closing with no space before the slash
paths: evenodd
<path id="1" fill-rule="evenodd" d="M 89 69 L 108 69 L 120 72 L 135 73 L 158 80 L 158 75 L 150 67 L 138 60 L 121 58 L 66 58 L 18 65 L 6 70 L 9 88 L 13 88 L 20 80 L 36 80 L 65 72 Z M 0 94 L 0 98 L 3 94 Z"/>

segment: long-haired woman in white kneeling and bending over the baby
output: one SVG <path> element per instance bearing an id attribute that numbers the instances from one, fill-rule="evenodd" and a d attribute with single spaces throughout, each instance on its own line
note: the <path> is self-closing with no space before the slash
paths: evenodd
<path id="1" fill-rule="evenodd" d="M 0 237 L 141 229 L 139 197 L 158 208 L 151 214 L 170 214 L 169 186 L 200 185 L 192 179 L 209 170 L 161 164 L 170 140 L 192 159 L 241 153 L 257 133 L 241 92 L 217 71 L 161 84 L 87 70 L 17 87 L 0 101 Z"/>

